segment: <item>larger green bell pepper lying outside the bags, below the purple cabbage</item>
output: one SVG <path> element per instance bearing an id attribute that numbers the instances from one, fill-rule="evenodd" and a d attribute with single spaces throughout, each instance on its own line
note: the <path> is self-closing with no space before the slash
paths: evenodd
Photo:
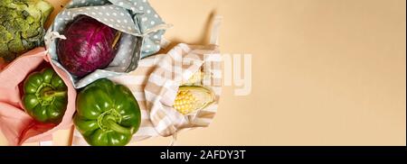
<path id="1" fill-rule="evenodd" d="M 99 79 L 83 88 L 73 123 L 92 146 L 125 146 L 141 123 L 140 108 L 128 87 Z"/>

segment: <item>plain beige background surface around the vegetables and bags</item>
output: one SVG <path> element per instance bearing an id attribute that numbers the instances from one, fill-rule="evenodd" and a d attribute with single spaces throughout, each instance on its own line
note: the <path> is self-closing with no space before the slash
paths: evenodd
<path id="1" fill-rule="evenodd" d="M 175 25 L 168 39 L 205 43 L 215 12 L 222 52 L 253 55 L 251 95 L 223 87 L 213 124 L 180 145 L 406 145 L 404 0 L 150 2 Z"/>

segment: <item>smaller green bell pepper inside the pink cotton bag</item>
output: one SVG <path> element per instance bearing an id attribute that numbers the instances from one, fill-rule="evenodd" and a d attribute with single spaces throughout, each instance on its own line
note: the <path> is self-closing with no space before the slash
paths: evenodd
<path id="1" fill-rule="evenodd" d="M 24 109 L 38 122 L 60 123 L 68 104 L 67 90 L 52 68 L 34 72 L 24 80 Z"/>

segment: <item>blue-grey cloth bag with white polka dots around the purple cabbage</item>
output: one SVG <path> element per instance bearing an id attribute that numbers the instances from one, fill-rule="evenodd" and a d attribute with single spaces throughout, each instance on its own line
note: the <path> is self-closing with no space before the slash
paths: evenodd
<path id="1" fill-rule="evenodd" d="M 80 14 L 88 15 L 100 23 L 114 28 L 123 35 L 116 58 L 108 68 L 98 69 L 86 77 L 74 77 L 62 67 L 56 54 L 56 43 L 63 38 L 63 31 Z M 137 68 L 138 60 L 147 58 L 161 49 L 160 43 L 168 26 L 147 0 L 72 0 L 58 14 L 45 35 L 45 44 L 52 63 L 65 70 L 73 86 L 86 87 L 104 77 L 116 77 Z"/>

